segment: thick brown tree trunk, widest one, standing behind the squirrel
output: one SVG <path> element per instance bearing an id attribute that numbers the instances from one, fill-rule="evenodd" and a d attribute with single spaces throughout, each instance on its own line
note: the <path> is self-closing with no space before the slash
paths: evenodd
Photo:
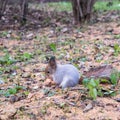
<path id="1" fill-rule="evenodd" d="M 90 20 L 96 0 L 71 0 L 75 24 Z"/>

